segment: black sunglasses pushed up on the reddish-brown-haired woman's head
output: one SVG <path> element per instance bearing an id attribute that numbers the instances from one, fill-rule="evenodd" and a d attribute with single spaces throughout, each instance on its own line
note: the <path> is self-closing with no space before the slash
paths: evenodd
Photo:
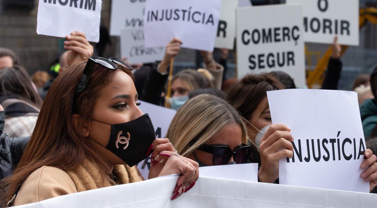
<path id="1" fill-rule="evenodd" d="M 90 57 L 86 63 L 83 75 L 81 75 L 80 83 L 78 83 L 73 103 L 75 104 L 77 96 L 86 88 L 89 82 L 89 78 L 92 75 L 93 69 L 96 65 L 100 65 L 105 69 L 115 70 L 118 69 L 118 66 L 116 66 L 116 64 L 123 65 L 124 67 L 126 67 L 126 69 L 132 71 L 132 67 L 117 58 L 110 57 L 109 59 L 107 59 L 102 57 Z"/>

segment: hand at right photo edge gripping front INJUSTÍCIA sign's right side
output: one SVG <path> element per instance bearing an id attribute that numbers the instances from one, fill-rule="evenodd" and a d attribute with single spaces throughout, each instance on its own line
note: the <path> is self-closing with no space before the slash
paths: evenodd
<path id="1" fill-rule="evenodd" d="M 366 159 L 360 167 L 366 170 L 363 171 L 361 177 L 364 178 L 364 181 L 369 181 L 369 191 L 372 191 L 377 186 L 377 157 L 370 149 L 365 150 L 364 156 Z"/>

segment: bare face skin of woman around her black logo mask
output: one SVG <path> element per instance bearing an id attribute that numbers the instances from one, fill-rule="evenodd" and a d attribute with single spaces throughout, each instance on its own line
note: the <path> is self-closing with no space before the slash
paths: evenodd
<path id="1" fill-rule="evenodd" d="M 124 162 L 105 148 L 110 138 L 110 125 L 122 124 L 142 116 L 143 112 L 139 109 L 137 100 L 138 93 L 132 78 L 118 70 L 113 75 L 112 82 L 101 90 L 100 97 L 95 101 L 92 119 L 105 124 L 91 121 L 88 137 L 104 147 L 91 139 L 89 141 L 112 165 L 124 164 Z"/>

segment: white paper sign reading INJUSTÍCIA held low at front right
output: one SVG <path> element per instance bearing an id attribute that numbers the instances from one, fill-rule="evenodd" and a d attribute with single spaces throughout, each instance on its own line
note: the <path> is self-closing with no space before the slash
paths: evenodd
<path id="1" fill-rule="evenodd" d="M 267 92 L 273 124 L 292 129 L 294 158 L 279 162 L 280 184 L 369 193 L 360 176 L 366 150 L 357 93 Z"/>

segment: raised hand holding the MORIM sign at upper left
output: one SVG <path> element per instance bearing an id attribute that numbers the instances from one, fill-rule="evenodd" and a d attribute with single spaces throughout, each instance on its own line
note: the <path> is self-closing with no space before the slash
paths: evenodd
<path id="1" fill-rule="evenodd" d="M 68 50 L 68 66 L 80 61 L 87 61 L 93 55 L 93 46 L 86 40 L 84 33 L 75 31 L 67 35 L 66 39 L 64 49 Z"/>

